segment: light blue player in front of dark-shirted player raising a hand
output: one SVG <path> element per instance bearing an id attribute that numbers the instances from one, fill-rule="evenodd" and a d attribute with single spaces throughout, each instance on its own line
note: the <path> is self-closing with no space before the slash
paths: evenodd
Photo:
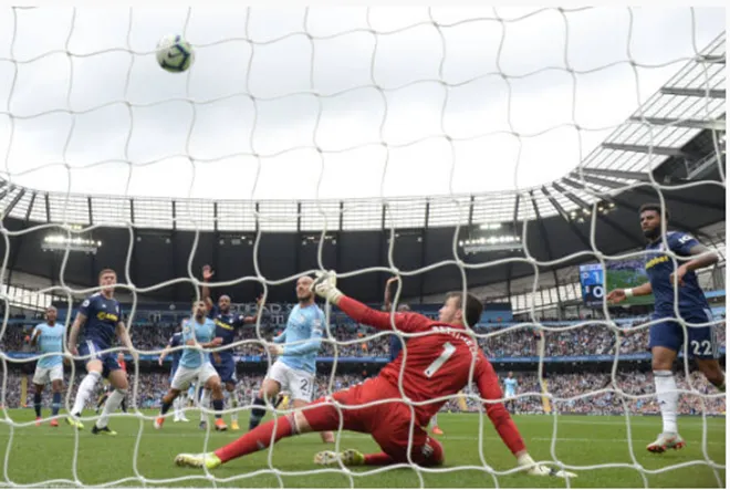
<path id="1" fill-rule="evenodd" d="M 163 408 L 155 419 L 155 428 L 160 429 L 165 423 L 165 414 L 170 409 L 179 394 L 188 389 L 190 383 L 196 382 L 212 392 L 213 409 L 216 410 L 216 430 L 226 430 L 228 426 L 223 423 L 221 411 L 223 410 L 223 388 L 220 376 L 210 363 L 210 353 L 196 347 L 213 348 L 221 344 L 216 337 L 216 324 L 206 315 L 208 309 L 202 301 L 192 303 L 192 319 L 182 323 L 182 355 L 170 383 L 170 389 L 163 397 Z"/>

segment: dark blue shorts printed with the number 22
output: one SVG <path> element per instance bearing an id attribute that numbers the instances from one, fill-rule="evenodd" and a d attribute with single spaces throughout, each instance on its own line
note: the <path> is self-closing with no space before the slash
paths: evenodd
<path id="1" fill-rule="evenodd" d="M 710 310 L 680 312 L 685 322 L 698 324 L 713 321 Z M 671 314 L 654 313 L 651 320 L 666 319 Z M 687 352 L 689 357 L 699 359 L 717 359 L 720 357 L 720 345 L 717 340 L 717 325 L 687 326 Z M 649 350 L 667 347 L 677 353 L 684 353 L 685 332 L 677 320 L 666 320 L 649 327 Z"/>

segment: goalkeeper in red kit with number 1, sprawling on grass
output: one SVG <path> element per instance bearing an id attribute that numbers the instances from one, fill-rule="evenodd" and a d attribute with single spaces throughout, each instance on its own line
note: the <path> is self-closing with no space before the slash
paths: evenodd
<path id="1" fill-rule="evenodd" d="M 481 302 L 472 294 L 468 294 L 466 304 L 462 304 L 462 293 L 448 293 L 439 311 L 439 320 L 432 321 L 418 313 L 396 313 L 392 316 L 390 313 L 372 310 L 340 292 L 334 272 L 320 274 L 312 288 L 317 295 L 358 323 L 390 331 L 395 324 L 400 332 L 421 334 L 408 338 L 403 377 L 399 379 L 404 363 L 404 353 L 400 353 L 378 376 L 262 424 L 215 452 L 178 455 L 175 458 L 178 466 L 215 469 L 232 459 L 265 449 L 284 437 L 337 430 L 341 424 L 345 430 L 371 434 L 383 452 L 362 455 L 347 450 L 336 455 L 322 451 L 315 456 L 315 462 L 333 465 L 341 458 L 348 466 L 405 462 L 439 466 L 444 463 L 444 449 L 421 427 L 428 425 L 431 416 L 446 402 L 429 400 L 456 395 L 468 386 L 472 379 L 472 365 L 473 382 L 480 396 L 487 400 L 502 398 L 494 369 L 468 334 L 468 325 L 474 325 L 482 312 Z M 404 400 L 404 395 L 413 405 Z M 486 410 L 518 465 L 529 475 L 575 477 L 567 471 L 536 465 L 501 403 L 487 403 Z M 411 423 L 414 418 L 415 424 Z M 410 452 L 409 440 L 413 441 Z"/>

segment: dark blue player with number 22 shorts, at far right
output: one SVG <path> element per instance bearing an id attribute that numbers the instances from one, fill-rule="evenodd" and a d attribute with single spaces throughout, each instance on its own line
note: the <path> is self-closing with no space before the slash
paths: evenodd
<path id="1" fill-rule="evenodd" d="M 645 256 L 645 267 L 649 282 L 638 288 L 613 290 L 606 299 L 616 304 L 626 298 L 654 293 L 651 320 L 660 321 L 649 327 L 648 347 L 651 351 L 651 369 L 664 428 L 657 440 L 647 446 L 647 450 L 664 452 L 670 448 L 680 449 L 685 446 L 685 440 L 677 430 L 679 394 L 671 373 L 671 366 L 682 346 L 688 347 L 687 354 L 695 358 L 707 379 L 724 393 L 724 373 L 718 362 L 716 326 L 712 324 L 710 305 L 695 273 L 697 269 L 716 263 L 718 256 L 688 233 L 668 231 L 663 237 L 669 212 L 665 211 L 663 217 L 660 205 L 642 206 L 639 216 L 642 231 L 648 240 L 646 250 L 649 253 Z M 677 256 L 676 270 L 667 248 Z M 675 280 L 678 286 L 678 304 L 675 303 Z M 677 319 L 675 306 L 679 311 L 681 321 L 687 325 L 687 344 L 685 344 L 685 330 Z"/>

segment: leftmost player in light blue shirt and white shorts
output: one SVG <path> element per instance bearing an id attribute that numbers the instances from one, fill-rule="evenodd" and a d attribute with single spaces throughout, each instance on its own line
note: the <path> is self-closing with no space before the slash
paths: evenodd
<path id="1" fill-rule="evenodd" d="M 54 306 L 45 309 L 45 323 L 39 324 L 30 338 L 31 345 L 39 346 L 41 354 L 48 355 L 38 359 L 35 374 L 33 375 L 33 407 L 35 408 L 35 425 L 41 425 L 41 402 L 43 388 L 50 382 L 53 390 L 53 404 L 51 413 L 53 417 L 59 415 L 61 409 L 61 392 L 63 390 L 63 338 L 65 337 L 66 326 L 56 322 L 59 312 Z M 52 427 L 59 426 L 59 420 L 51 420 Z"/>

